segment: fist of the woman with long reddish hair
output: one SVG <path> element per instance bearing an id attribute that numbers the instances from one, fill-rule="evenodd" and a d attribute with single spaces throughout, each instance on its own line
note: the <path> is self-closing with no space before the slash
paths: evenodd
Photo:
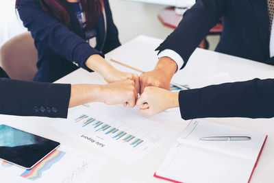
<path id="1" fill-rule="evenodd" d="M 112 82 L 118 82 L 123 80 L 132 80 L 134 82 L 134 86 L 136 88 L 137 93 L 139 93 L 140 90 L 140 84 L 139 84 L 139 76 L 134 73 L 125 73 L 118 71 L 116 69 L 110 69 L 110 71 L 103 74 L 103 77 L 106 82 L 112 83 Z"/>

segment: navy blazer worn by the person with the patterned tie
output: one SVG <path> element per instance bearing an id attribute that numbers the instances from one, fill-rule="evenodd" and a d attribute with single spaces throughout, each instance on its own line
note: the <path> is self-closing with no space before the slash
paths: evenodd
<path id="1" fill-rule="evenodd" d="M 197 0 L 186 11 L 177 29 L 156 50 L 176 51 L 185 66 L 192 52 L 221 17 L 223 34 L 216 51 L 274 64 L 274 58 L 269 56 L 266 0 Z"/>

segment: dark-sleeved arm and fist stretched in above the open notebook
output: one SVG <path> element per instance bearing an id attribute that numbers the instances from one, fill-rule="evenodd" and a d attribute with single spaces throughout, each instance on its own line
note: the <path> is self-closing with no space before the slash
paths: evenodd
<path id="1" fill-rule="evenodd" d="M 147 88 L 146 88 L 147 89 Z M 207 86 L 172 93 L 162 88 L 148 87 L 136 105 L 140 112 L 153 115 L 179 106 L 182 119 L 205 117 L 274 117 L 274 80 L 254 79 Z"/>

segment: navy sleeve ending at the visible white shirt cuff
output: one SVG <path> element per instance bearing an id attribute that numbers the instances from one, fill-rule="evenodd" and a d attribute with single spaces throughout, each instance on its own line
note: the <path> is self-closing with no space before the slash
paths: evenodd
<path id="1" fill-rule="evenodd" d="M 197 0 L 195 5 L 187 10 L 177 29 L 172 32 L 156 49 L 163 51 L 171 49 L 188 62 L 191 54 L 206 37 L 226 9 L 227 0 Z"/>

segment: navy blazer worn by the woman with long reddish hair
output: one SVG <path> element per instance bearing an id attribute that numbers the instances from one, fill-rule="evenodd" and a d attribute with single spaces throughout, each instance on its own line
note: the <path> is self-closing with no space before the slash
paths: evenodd
<path id="1" fill-rule="evenodd" d="M 62 1 L 71 17 L 68 27 L 44 12 L 39 0 L 21 0 L 18 3 L 20 18 L 24 26 L 32 32 L 38 50 L 38 73 L 34 78 L 35 81 L 54 82 L 75 71 L 78 66 L 91 71 L 85 64 L 89 56 L 93 54 L 103 56 L 103 53 L 108 53 L 121 45 L 108 0 L 104 0 L 107 32 L 105 33 L 105 21 L 101 14 L 96 25 L 95 48 L 84 40 L 84 30 L 80 27 L 71 5 L 66 0 Z"/>

